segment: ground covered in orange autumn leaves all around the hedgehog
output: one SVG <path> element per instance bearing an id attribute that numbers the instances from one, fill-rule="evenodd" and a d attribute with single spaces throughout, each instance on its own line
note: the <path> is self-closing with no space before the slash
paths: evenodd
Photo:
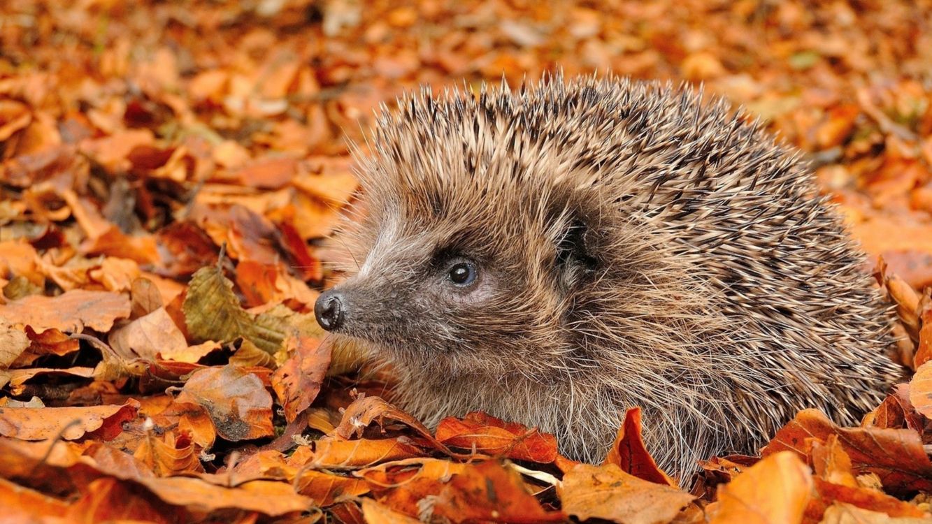
<path id="1" fill-rule="evenodd" d="M 69 5 L 69 7 L 64 7 Z M 4 522 L 928 522 L 927 0 L 0 3 Z M 914 369 L 859 427 L 671 479 L 482 413 L 425 428 L 311 314 L 348 141 L 418 83 L 688 80 L 809 157 Z M 387 377 L 386 380 L 391 380 Z M 388 396 L 386 396 L 388 398 Z"/>

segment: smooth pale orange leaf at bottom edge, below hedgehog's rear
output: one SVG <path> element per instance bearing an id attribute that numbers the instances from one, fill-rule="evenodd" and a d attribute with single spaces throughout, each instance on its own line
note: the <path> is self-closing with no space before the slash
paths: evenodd
<path id="1" fill-rule="evenodd" d="M 709 524 L 801 522 L 812 496 L 813 478 L 806 464 L 791 452 L 775 452 L 719 486 Z"/>

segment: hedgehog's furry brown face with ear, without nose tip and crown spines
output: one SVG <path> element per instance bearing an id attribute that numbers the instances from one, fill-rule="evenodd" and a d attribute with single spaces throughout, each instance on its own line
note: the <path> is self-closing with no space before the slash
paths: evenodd
<path id="1" fill-rule="evenodd" d="M 584 192 L 528 183 L 539 173 L 490 186 L 451 173 L 461 166 L 433 168 L 445 170 L 424 177 L 436 185 L 366 185 L 360 266 L 333 291 L 336 331 L 408 368 L 557 380 L 584 358 L 572 327 L 587 316 L 581 294 L 617 285 L 622 268 L 600 260 L 627 247 L 615 241 L 624 226 L 583 214 Z"/>

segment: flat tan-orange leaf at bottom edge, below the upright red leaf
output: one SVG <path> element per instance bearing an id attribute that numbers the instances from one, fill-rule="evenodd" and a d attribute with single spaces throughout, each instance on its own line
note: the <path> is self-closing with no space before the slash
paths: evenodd
<path id="1" fill-rule="evenodd" d="M 563 477 L 563 511 L 581 520 L 652 524 L 669 522 L 694 496 L 630 475 L 617 464 L 578 464 Z"/>

